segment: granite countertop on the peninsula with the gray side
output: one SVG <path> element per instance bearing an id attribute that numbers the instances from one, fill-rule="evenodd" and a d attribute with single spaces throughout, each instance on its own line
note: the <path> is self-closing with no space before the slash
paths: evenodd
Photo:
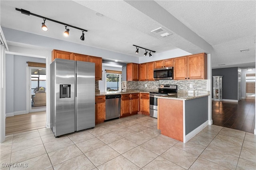
<path id="1" fill-rule="evenodd" d="M 210 91 L 193 91 L 193 92 L 178 91 L 177 95 L 156 96 L 156 98 L 172 99 L 172 100 L 191 100 L 191 99 L 202 98 L 206 96 L 210 96 Z"/>

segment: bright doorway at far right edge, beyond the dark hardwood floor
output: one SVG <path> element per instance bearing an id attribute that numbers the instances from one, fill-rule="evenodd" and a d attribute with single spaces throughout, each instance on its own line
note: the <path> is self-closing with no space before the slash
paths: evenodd
<path id="1" fill-rule="evenodd" d="M 255 74 L 246 74 L 246 99 L 255 99 Z"/>

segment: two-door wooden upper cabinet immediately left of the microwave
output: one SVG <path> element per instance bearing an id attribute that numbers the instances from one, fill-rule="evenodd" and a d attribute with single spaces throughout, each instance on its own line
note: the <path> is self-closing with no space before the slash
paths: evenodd
<path id="1" fill-rule="evenodd" d="M 154 68 L 155 63 L 142 63 L 140 64 L 140 81 L 154 81 Z"/>

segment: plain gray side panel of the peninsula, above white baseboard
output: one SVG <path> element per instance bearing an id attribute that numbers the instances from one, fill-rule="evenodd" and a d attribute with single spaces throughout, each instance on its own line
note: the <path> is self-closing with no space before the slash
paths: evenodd
<path id="1" fill-rule="evenodd" d="M 208 96 L 185 101 L 186 135 L 208 120 Z"/>

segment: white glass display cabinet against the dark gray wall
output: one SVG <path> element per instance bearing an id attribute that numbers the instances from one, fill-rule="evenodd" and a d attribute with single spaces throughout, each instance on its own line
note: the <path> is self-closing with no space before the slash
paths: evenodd
<path id="1" fill-rule="evenodd" d="M 222 101 L 222 76 L 213 77 L 213 100 Z"/>

